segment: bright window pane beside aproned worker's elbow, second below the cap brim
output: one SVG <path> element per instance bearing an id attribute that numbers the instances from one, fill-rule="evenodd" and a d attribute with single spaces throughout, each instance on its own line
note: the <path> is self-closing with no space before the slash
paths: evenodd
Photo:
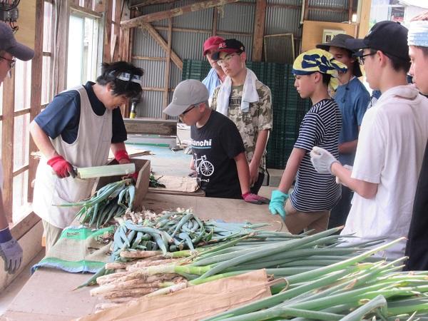
<path id="1" fill-rule="evenodd" d="M 30 114 L 15 117 L 14 124 L 14 170 L 29 163 Z"/>

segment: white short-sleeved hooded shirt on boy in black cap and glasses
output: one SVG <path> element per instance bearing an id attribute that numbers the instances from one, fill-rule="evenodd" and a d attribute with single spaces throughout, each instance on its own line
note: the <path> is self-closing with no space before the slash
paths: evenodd
<path id="1" fill-rule="evenodd" d="M 374 198 L 355 193 L 342 234 L 387 242 L 407 237 L 427 138 L 428 99 L 411 85 L 390 88 L 367 109 L 352 178 L 379 185 Z M 402 241 L 384 255 L 401 258 L 404 249 Z"/>

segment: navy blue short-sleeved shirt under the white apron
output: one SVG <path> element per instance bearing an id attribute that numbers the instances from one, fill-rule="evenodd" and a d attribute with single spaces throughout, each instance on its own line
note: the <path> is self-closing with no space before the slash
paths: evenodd
<path id="1" fill-rule="evenodd" d="M 93 82 L 88 81 L 83 88 L 88 93 L 89 102 L 94 113 L 98 116 L 103 116 L 106 107 L 98 100 L 93 92 Z M 81 99 L 78 91 L 64 91 L 58 93 L 54 100 L 41 111 L 34 121 L 43 129 L 50 138 L 55 139 L 59 135 L 66 143 L 76 141 L 78 133 L 78 124 L 80 121 Z M 121 110 L 113 109 L 113 137 L 111 143 L 123 143 L 126 141 L 126 128 L 123 123 Z"/>

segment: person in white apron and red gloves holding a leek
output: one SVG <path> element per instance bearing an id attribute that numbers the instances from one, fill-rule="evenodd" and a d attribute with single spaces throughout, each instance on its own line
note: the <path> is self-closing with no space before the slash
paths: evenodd
<path id="1" fill-rule="evenodd" d="M 103 63 L 96 83 L 59 93 L 31 122 L 31 136 L 44 156 L 36 172 L 33 210 L 43 220 L 46 253 L 80 209 L 55 205 L 91 195 L 94 180 L 73 177 L 73 167 L 106 165 L 109 149 L 118 163 L 130 162 L 117 107 L 141 95 L 141 76 L 141 68 L 125 61 Z"/>

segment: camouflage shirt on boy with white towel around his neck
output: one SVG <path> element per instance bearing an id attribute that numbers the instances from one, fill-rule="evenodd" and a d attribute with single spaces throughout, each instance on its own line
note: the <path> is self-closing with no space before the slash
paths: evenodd
<path id="1" fill-rule="evenodd" d="M 258 103 L 250 103 L 250 111 L 244 113 L 241 111 L 240 103 L 243 96 L 243 85 L 232 86 L 229 97 L 228 117 L 235 123 L 243 138 L 245 153 L 248 163 L 253 158 L 255 151 L 255 143 L 257 142 L 259 131 L 272 128 L 272 106 L 271 94 L 269 87 L 263 85 L 260 81 L 255 82 L 259 101 Z M 217 108 L 217 96 L 220 86 L 215 88 L 213 93 L 213 101 L 211 108 Z M 259 172 L 266 171 L 266 150 L 263 152 L 262 160 L 260 161 Z"/>

